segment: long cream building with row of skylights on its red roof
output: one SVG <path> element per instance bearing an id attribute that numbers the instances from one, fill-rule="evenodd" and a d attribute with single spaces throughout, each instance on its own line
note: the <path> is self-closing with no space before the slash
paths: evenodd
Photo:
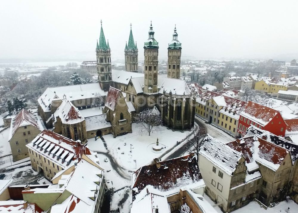
<path id="1" fill-rule="evenodd" d="M 43 173 L 49 180 L 67 166 L 74 164 L 79 157 L 93 159 L 95 155 L 79 141 L 75 142 L 49 130 L 43 130 L 26 146 L 32 168 Z"/>

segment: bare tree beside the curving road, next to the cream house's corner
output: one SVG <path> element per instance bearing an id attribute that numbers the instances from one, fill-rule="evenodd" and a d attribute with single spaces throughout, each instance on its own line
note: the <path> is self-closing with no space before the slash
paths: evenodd
<path id="1" fill-rule="evenodd" d="M 198 132 L 195 133 L 195 130 L 193 129 L 193 139 L 187 139 L 188 142 L 190 142 L 190 146 L 187 147 L 188 152 L 194 152 L 197 156 L 197 161 L 199 162 L 199 150 L 202 144 L 202 141 L 207 136 L 207 130 L 204 127 L 199 127 Z"/>

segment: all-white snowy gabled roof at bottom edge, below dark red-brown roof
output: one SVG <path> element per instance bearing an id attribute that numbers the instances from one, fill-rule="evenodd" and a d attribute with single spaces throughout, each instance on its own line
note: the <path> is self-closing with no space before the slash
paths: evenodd
<path id="1" fill-rule="evenodd" d="M 159 213 L 170 213 L 170 205 L 167 203 L 167 198 L 163 195 L 150 192 L 151 188 L 144 188 L 138 195 L 131 206 L 131 213 L 156 213 L 158 208 Z M 160 193 L 161 194 L 161 193 Z"/>

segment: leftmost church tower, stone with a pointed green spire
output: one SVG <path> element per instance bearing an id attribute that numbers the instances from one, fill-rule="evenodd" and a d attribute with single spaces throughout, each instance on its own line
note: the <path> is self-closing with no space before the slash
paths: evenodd
<path id="1" fill-rule="evenodd" d="M 105 42 L 105 35 L 103 34 L 103 22 L 100 20 L 101 29 L 99 42 L 96 43 L 96 60 L 97 60 L 97 74 L 98 82 L 104 91 L 108 91 L 110 83 L 112 83 L 112 69 L 111 69 L 111 49 Z"/>

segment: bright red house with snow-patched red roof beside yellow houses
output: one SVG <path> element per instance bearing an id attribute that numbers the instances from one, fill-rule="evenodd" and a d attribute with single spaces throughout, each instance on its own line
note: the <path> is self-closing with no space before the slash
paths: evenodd
<path id="1" fill-rule="evenodd" d="M 246 134 L 250 125 L 267 130 L 275 135 L 284 136 L 287 124 L 280 111 L 249 101 L 239 114 L 238 137 Z"/>

